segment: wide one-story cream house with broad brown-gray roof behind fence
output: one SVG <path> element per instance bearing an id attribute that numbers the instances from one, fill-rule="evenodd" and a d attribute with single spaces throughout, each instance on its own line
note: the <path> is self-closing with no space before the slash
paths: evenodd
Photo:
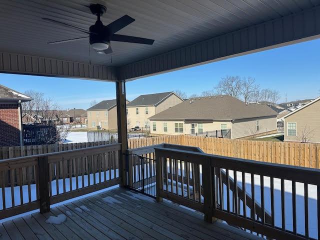
<path id="1" fill-rule="evenodd" d="M 150 134 L 190 134 L 230 129 L 231 138 L 275 133 L 276 112 L 229 95 L 195 97 L 149 118 Z"/>

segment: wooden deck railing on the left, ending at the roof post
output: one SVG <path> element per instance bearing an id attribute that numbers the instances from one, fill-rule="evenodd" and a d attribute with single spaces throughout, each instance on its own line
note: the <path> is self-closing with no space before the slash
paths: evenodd
<path id="1" fill-rule="evenodd" d="M 0 160 L 0 219 L 119 184 L 119 150 L 115 143 Z"/>

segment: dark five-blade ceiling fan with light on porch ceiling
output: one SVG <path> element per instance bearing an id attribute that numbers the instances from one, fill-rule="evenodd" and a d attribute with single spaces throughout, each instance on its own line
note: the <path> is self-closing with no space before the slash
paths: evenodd
<path id="1" fill-rule="evenodd" d="M 128 15 L 124 15 L 116 19 L 115 21 L 111 22 L 108 25 L 103 25 L 102 21 L 100 20 L 100 16 L 102 16 L 105 13 L 106 7 L 101 4 L 90 4 L 87 7 L 90 8 L 92 14 L 97 16 L 97 20 L 95 21 L 94 25 L 91 25 L 89 27 L 89 30 L 83 29 L 81 27 L 73 26 L 61 21 L 57 21 L 54 19 L 42 18 L 43 20 L 50 21 L 55 24 L 71 27 L 73 29 L 89 34 L 88 36 L 83 36 L 83 37 L 76 37 L 76 38 L 60 40 L 60 41 L 51 41 L 51 42 L 48 42 L 48 44 L 77 41 L 77 40 L 81 40 L 83 38 L 89 37 L 89 42 L 92 48 L 97 53 L 101 53 L 101 54 L 108 54 L 112 52 L 112 49 L 110 47 L 110 41 L 124 41 L 124 42 L 133 42 L 133 43 L 141 43 L 141 44 L 149 44 L 149 45 L 153 44 L 154 40 L 152 39 L 114 34 L 118 30 L 125 27 L 126 25 L 135 21 L 134 18 Z"/>

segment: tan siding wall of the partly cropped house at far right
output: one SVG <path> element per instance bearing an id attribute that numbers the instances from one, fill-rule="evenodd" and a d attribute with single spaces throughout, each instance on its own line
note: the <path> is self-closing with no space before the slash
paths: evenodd
<path id="1" fill-rule="evenodd" d="M 296 136 L 287 135 L 287 123 L 296 122 Z M 302 141 L 303 131 L 310 132 L 309 142 L 320 142 L 320 100 L 284 118 L 284 140 Z"/>

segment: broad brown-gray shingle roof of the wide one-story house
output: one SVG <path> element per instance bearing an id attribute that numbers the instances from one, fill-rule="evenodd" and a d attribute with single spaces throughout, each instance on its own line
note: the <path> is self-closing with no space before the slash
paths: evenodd
<path id="1" fill-rule="evenodd" d="M 190 103 L 191 102 L 191 103 Z M 229 95 L 194 97 L 149 119 L 244 119 L 251 117 L 276 116 L 267 105 L 245 104 Z"/>

